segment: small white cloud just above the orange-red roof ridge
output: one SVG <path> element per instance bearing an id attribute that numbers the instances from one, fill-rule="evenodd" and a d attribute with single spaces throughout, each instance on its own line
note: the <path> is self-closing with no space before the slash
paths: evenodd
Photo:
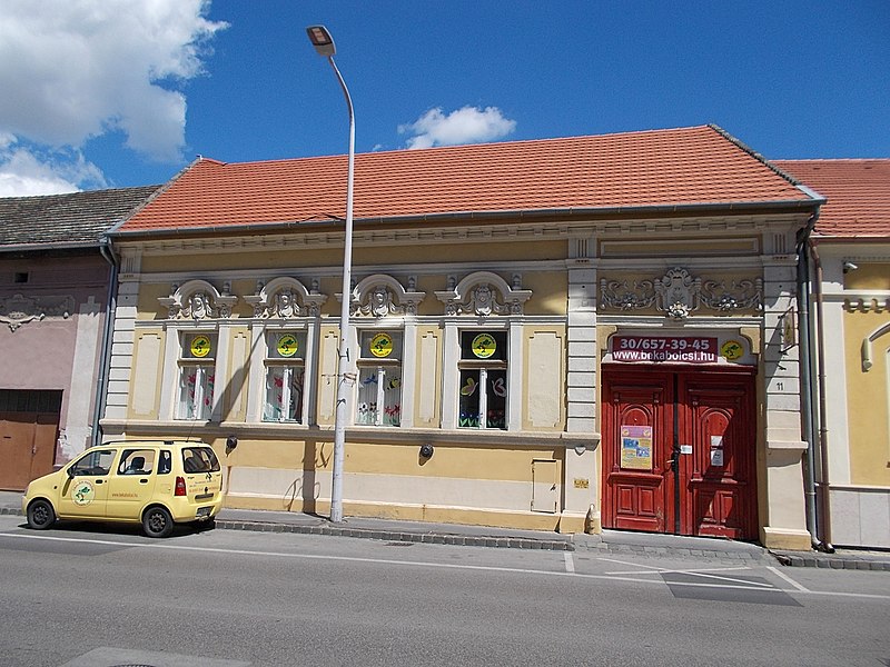
<path id="1" fill-rule="evenodd" d="M 497 107 L 463 107 L 447 116 L 441 108 L 431 109 L 412 123 L 398 127 L 399 133 L 414 135 L 408 148 L 432 148 L 478 143 L 506 137 L 516 129 L 516 121 L 504 118 Z"/>

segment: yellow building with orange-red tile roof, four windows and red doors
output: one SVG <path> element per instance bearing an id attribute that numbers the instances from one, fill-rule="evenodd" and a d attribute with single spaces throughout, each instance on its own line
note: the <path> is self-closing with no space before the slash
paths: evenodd
<path id="1" fill-rule="evenodd" d="M 200 159 L 112 233 L 106 436 L 204 439 L 228 506 L 327 514 L 345 377 L 346 515 L 810 547 L 822 199 L 712 126 L 355 168 L 346 368 L 345 157 Z"/>

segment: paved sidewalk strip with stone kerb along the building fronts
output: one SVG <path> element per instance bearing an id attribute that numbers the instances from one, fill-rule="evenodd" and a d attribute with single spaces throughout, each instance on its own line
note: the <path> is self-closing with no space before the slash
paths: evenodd
<path id="1" fill-rule="evenodd" d="M 21 494 L 0 491 L 0 514 L 21 515 Z M 229 530 L 294 532 L 475 547 L 589 551 L 657 558 L 708 559 L 733 564 L 782 564 L 793 567 L 890 571 L 890 552 L 838 549 L 775 551 L 760 545 L 725 539 L 604 530 L 602 535 L 561 535 L 537 530 L 427 524 L 347 517 L 332 524 L 326 517 L 291 511 L 224 509 L 216 526 Z"/>

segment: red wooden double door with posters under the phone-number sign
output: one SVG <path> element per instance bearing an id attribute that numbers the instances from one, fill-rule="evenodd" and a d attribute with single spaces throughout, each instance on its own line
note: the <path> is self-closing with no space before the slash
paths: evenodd
<path id="1" fill-rule="evenodd" d="M 755 539 L 754 406 L 748 369 L 604 368 L 603 526 Z"/>

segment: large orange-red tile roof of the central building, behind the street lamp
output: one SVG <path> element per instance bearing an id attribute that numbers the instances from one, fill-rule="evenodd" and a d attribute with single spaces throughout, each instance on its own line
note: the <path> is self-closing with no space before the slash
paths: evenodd
<path id="1" fill-rule="evenodd" d="M 345 217 L 346 156 L 198 159 L 120 232 L 295 225 Z M 356 156 L 356 220 L 620 212 L 712 205 L 813 206 L 713 126 Z"/>

